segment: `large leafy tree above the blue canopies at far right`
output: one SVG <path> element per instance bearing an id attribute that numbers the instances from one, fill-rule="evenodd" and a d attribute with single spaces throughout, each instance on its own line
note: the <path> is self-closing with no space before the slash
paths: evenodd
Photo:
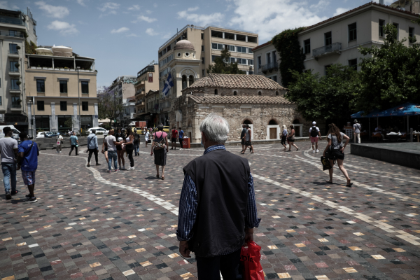
<path id="1" fill-rule="evenodd" d="M 384 28 L 386 40 L 381 48 L 359 48 L 369 56 L 360 63 L 360 90 L 357 109 L 370 112 L 386 110 L 404 102 L 420 102 L 420 45 L 398 41 L 393 25 Z"/>

